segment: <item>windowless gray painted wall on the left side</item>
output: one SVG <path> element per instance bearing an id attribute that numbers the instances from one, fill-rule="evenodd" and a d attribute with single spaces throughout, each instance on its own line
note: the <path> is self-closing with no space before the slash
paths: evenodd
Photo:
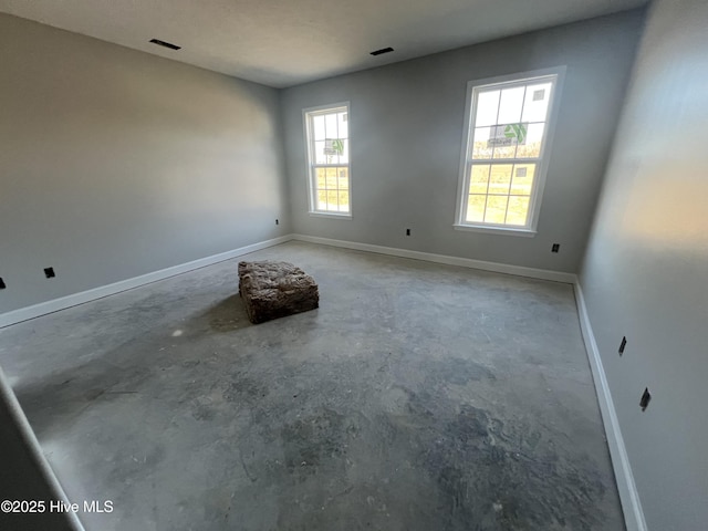
<path id="1" fill-rule="evenodd" d="M 0 69 L 0 313 L 291 231 L 275 90 L 6 14 Z"/>

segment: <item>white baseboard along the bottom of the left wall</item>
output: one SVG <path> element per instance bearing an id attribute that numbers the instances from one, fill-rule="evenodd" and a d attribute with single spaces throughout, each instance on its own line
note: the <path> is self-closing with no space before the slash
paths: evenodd
<path id="1" fill-rule="evenodd" d="M 284 243 L 285 241 L 290 240 L 292 240 L 291 235 L 281 236 L 280 238 L 273 238 L 271 240 L 259 241 L 258 243 L 241 247 L 239 249 L 233 249 L 227 252 L 221 252 L 219 254 L 214 254 L 207 258 L 200 258 L 199 260 L 181 263 L 179 266 L 173 266 L 171 268 L 160 269 L 159 271 L 142 274 L 140 277 L 134 277 L 132 279 L 114 282 L 113 284 L 102 285 L 100 288 L 94 288 L 92 290 L 82 291 L 72 295 L 62 296 L 52 301 L 41 302 L 31 306 L 21 308 L 12 312 L 0 314 L 0 329 L 2 329 L 3 326 L 10 326 L 11 324 L 20 323 L 22 321 L 27 321 L 29 319 L 46 315 L 48 313 L 65 310 L 77 304 L 83 304 L 84 302 L 95 301 L 96 299 L 113 295 L 122 291 L 132 290 L 133 288 L 149 284 L 150 282 L 168 279 L 169 277 L 186 273 L 187 271 L 192 271 L 206 266 L 212 266 L 225 260 L 230 260 L 232 258 L 248 254 L 249 252 L 253 251 L 259 251 L 261 249 L 277 246 L 279 243 Z"/>

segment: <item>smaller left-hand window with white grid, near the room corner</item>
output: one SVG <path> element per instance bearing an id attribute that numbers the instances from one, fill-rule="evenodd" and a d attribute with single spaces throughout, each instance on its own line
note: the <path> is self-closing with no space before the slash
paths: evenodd
<path id="1" fill-rule="evenodd" d="M 310 212 L 350 217 L 350 105 L 303 111 L 308 144 Z"/>

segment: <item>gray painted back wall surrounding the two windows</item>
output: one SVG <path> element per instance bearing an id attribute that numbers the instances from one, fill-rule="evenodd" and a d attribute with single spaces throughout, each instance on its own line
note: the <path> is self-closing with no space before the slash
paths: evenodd
<path id="1" fill-rule="evenodd" d="M 625 12 L 284 90 L 294 230 L 576 272 L 643 21 L 644 11 Z M 568 72 L 538 236 L 454 230 L 467 82 L 561 64 Z M 312 217 L 302 110 L 342 101 L 351 102 L 353 219 Z"/>

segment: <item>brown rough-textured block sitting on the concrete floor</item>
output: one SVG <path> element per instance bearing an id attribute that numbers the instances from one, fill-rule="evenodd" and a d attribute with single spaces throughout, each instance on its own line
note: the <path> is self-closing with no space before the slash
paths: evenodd
<path id="1" fill-rule="evenodd" d="M 239 262 L 239 293 L 253 324 L 320 305 L 314 279 L 290 262 Z"/>

